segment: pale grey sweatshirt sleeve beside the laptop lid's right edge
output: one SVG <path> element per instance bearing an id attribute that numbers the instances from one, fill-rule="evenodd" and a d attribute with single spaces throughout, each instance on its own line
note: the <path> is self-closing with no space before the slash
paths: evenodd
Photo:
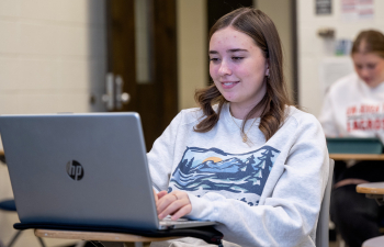
<path id="1" fill-rule="evenodd" d="M 151 150 L 147 154 L 150 177 L 154 188 L 157 191 L 167 190 L 171 175 L 174 143 L 178 135 L 178 128 L 182 122 L 182 112 L 180 112 L 166 131 L 154 143 Z"/>

